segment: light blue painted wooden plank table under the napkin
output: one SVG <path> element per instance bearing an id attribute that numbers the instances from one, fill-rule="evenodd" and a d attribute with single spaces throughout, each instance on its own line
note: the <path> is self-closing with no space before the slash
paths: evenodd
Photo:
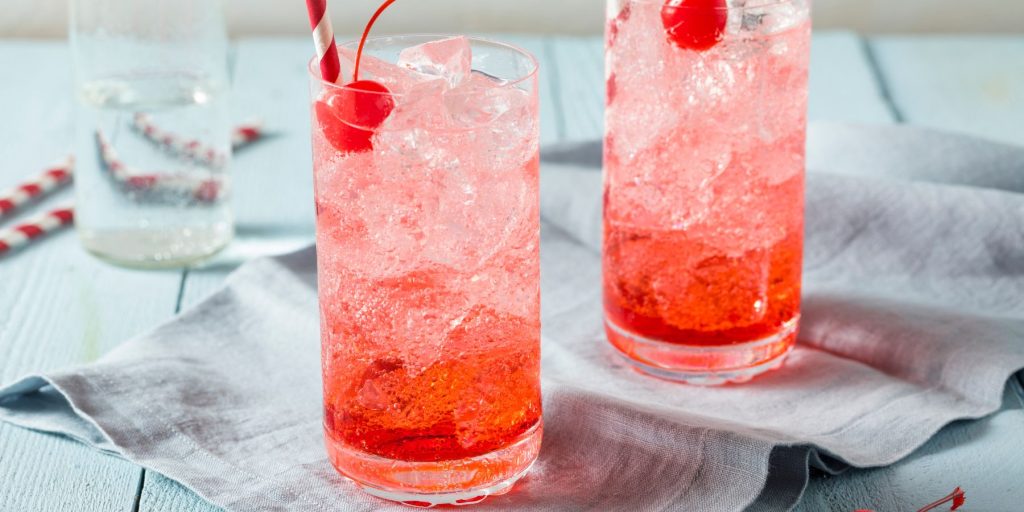
<path id="1" fill-rule="evenodd" d="M 602 132 L 597 38 L 503 37 L 543 66 L 543 142 Z M 87 256 L 70 231 L 0 258 L 0 382 L 96 359 L 214 290 L 237 263 L 312 240 L 303 39 L 243 40 L 233 53 L 237 117 L 280 135 L 234 167 L 240 241 L 202 269 L 142 272 Z M 0 187 L 70 147 L 72 101 L 62 42 L 0 41 Z M 815 37 L 814 121 L 907 123 L 1024 144 L 1024 37 Z M 1024 164 L 1022 164 L 1024 172 Z M 67 195 L 34 208 L 42 210 Z M 1022 340 L 1024 342 L 1024 340 Z M 996 415 L 946 428 L 889 468 L 816 476 L 807 512 L 916 510 L 955 485 L 965 510 L 1024 510 L 1024 392 Z M 0 511 L 212 511 L 154 472 L 52 435 L 0 425 Z"/>

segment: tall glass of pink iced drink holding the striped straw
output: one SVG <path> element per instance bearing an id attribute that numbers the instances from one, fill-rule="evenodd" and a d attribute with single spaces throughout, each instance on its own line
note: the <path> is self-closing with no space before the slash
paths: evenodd
<path id="1" fill-rule="evenodd" d="M 387 92 L 310 77 L 331 462 L 413 505 L 507 492 L 542 433 L 537 63 L 400 36 L 361 59 Z"/>

